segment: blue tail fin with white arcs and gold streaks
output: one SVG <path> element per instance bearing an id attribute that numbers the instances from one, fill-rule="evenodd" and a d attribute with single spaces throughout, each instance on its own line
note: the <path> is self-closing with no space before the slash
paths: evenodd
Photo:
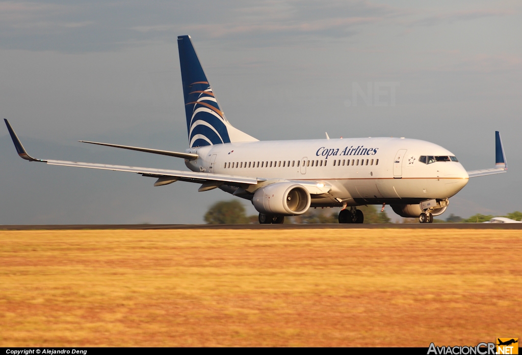
<path id="1" fill-rule="evenodd" d="M 199 62 L 190 36 L 178 36 L 181 80 L 189 146 L 257 141 L 235 129 L 224 117 L 216 96 Z"/>

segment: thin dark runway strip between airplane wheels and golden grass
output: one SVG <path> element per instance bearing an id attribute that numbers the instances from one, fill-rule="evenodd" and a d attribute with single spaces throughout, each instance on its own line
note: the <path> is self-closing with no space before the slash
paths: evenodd
<path id="1" fill-rule="evenodd" d="M 18 224 L 4 231 L 52 230 L 296 230 L 296 229 L 476 229 L 522 230 L 522 223 L 387 223 L 387 224 Z"/>

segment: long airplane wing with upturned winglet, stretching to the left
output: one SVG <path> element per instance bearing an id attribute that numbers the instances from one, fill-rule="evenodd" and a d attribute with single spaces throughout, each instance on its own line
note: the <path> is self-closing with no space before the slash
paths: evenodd
<path id="1" fill-rule="evenodd" d="M 65 167 L 78 167 L 78 168 L 133 172 L 133 173 L 141 174 L 143 176 L 151 176 L 153 178 L 158 178 L 158 181 L 155 183 L 155 186 L 166 185 L 166 184 L 172 183 L 177 180 L 195 182 L 195 183 L 203 183 L 203 185 L 201 185 L 201 187 L 199 188 L 199 191 L 206 191 L 208 189 L 218 187 L 218 186 L 222 185 L 223 183 L 228 183 L 228 184 L 231 184 L 234 186 L 241 186 L 241 185 L 254 185 L 259 182 L 266 181 L 266 179 L 251 178 L 249 176 L 209 174 L 209 173 L 203 173 L 203 172 L 181 171 L 181 170 L 127 167 L 127 166 L 120 166 L 120 165 L 83 163 L 83 162 L 78 162 L 78 161 L 36 159 L 36 158 L 31 157 L 29 154 L 27 154 L 26 149 L 23 147 L 23 145 L 20 142 L 15 131 L 9 124 L 9 121 L 7 121 L 6 119 L 4 119 L 4 121 L 5 121 L 5 124 L 7 125 L 7 129 L 9 130 L 9 134 L 11 135 L 11 138 L 13 139 L 13 143 L 15 144 L 15 148 L 16 148 L 18 155 L 22 159 L 26 159 L 29 161 L 39 161 L 39 162 L 48 163 L 50 165 L 59 165 L 59 166 L 65 166 Z M 118 147 L 118 148 L 120 148 L 120 147 Z M 135 147 L 125 147 L 125 148 L 135 148 Z M 133 149 L 133 150 L 137 150 L 137 149 Z M 169 153 L 171 153 L 171 152 L 169 152 Z M 172 152 L 172 153 L 174 153 L 174 152 Z M 186 159 L 190 159 L 190 158 L 191 157 L 186 157 Z"/>

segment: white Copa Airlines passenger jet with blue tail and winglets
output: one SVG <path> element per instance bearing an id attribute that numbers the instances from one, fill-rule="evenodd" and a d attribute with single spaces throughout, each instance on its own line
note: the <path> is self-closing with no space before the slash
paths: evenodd
<path id="1" fill-rule="evenodd" d="M 259 223 L 283 223 L 312 207 L 337 207 L 339 223 L 363 223 L 358 206 L 390 205 L 401 217 L 433 222 L 469 178 L 507 172 L 500 133 L 495 132 L 495 168 L 466 171 L 449 150 L 405 137 L 259 141 L 232 126 L 200 64 L 192 39 L 177 37 L 188 146 L 184 152 L 79 141 L 185 160 L 190 171 L 36 159 L 23 148 L 5 119 L 18 155 L 49 165 L 126 171 L 220 188 L 250 200 Z"/>

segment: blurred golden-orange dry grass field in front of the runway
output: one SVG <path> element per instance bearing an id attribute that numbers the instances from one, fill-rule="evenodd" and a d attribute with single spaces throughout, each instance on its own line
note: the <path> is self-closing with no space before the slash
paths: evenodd
<path id="1" fill-rule="evenodd" d="M 522 233 L 0 232 L 0 346 L 429 346 L 522 337 Z"/>

